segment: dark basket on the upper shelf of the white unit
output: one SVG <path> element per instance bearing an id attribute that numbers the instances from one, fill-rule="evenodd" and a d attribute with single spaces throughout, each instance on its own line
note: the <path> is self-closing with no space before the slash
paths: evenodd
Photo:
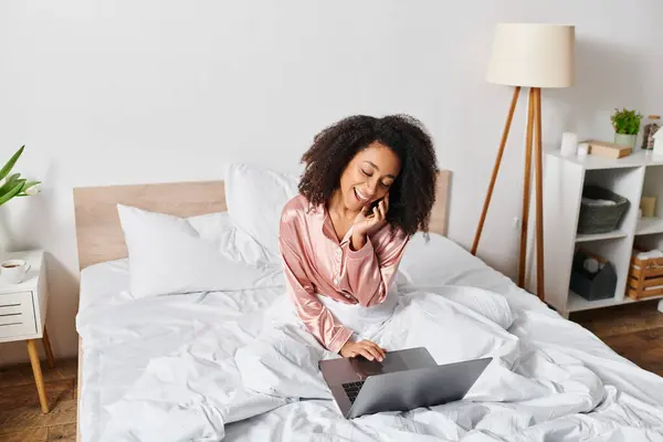
<path id="1" fill-rule="evenodd" d="M 580 203 L 578 233 L 608 233 L 619 228 L 629 209 L 629 200 L 598 186 L 586 186 L 582 197 L 592 200 L 611 200 L 612 206 Z"/>

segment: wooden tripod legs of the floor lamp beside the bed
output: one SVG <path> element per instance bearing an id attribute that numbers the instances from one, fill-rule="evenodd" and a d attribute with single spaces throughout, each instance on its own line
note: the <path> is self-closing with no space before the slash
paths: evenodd
<path id="1" fill-rule="evenodd" d="M 516 103 L 518 102 L 518 95 L 520 93 L 520 86 L 516 86 L 512 98 L 508 115 L 506 117 L 506 124 L 504 125 L 504 131 L 502 133 L 502 141 L 499 143 L 499 149 L 497 150 L 497 157 L 495 158 L 495 166 L 493 167 L 493 175 L 491 176 L 491 182 L 488 185 L 488 191 L 484 200 L 483 210 L 478 220 L 478 227 L 474 235 L 474 242 L 472 243 L 472 254 L 476 254 L 478 249 L 478 242 L 483 232 L 484 223 L 486 221 L 486 214 L 491 206 L 491 199 L 493 197 L 493 190 L 495 188 L 495 181 L 499 172 L 499 166 L 502 165 L 502 157 L 506 147 L 506 140 L 508 139 L 508 133 L 516 110 Z M 520 223 L 520 253 L 518 260 L 518 286 L 525 286 L 525 273 L 527 262 L 527 230 L 529 227 L 529 194 L 532 192 L 532 154 L 534 146 L 534 162 L 535 162 L 535 189 L 536 189 L 536 293 L 543 301 L 545 298 L 544 287 L 544 206 L 543 206 L 543 147 L 541 147 L 541 90 L 539 87 L 529 88 L 529 99 L 527 106 L 527 134 L 525 137 L 525 167 L 524 167 L 524 181 L 523 181 L 523 214 Z"/>

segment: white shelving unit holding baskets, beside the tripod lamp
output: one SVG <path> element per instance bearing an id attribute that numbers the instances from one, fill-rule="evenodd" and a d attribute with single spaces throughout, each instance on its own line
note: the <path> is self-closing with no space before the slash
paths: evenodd
<path id="1" fill-rule="evenodd" d="M 565 316 L 635 302 L 625 296 L 633 245 L 663 248 L 663 156 L 642 150 L 620 159 L 549 152 L 544 167 L 546 302 Z M 618 229 L 600 234 L 577 233 L 586 185 L 608 188 L 629 200 L 629 210 Z M 638 219 L 642 196 L 657 197 L 655 217 Z M 569 290 L 572 256 L 579 243 L 614 264 L 618 281 L 612 297 L 586 301 Z"/>

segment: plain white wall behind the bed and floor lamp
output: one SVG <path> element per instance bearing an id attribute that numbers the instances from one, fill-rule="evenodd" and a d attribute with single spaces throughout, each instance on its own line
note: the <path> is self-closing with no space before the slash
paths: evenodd
<path id="1" fill-rule="evenodd" d="M 663 112 L 661 17 L 656 0 L 3 1 L 0 160 L 25 144 L 17 170 L 45 189 L 0 209 L 0 238 L 50 252 L 48 325 L 56 356 L 73 355 L 73 186 L 218 179 L 230 160 L 293 169 L 340 117 L 410 113 L 454 172 L 450 235 L 469 246 L 512 94 L 484 81 L 493 25 L 577 25 L 577 85 L 544 92 L 550 147 L 562 130 L 611 138 L 617 106 Z M 518 106 L 481 244 L 509 275 Z M 23 344 L 0 346 L 18 359 Z"/>

